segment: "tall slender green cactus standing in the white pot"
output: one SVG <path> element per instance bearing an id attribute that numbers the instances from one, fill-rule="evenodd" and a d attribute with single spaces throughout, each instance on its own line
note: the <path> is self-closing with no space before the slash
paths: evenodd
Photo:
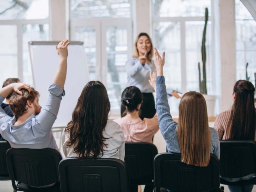
<path id="1" fill-rule="evenodd" d="M 203 30 L 203 39 L 202 39 L 202 47 L 201 47 L 202 62 L 203 62 L 203 69 L 202 69 L 203 79 L 202 80 L 201 80 L 201 67 L 200 67 L 200 63 L 198 63 L 199 89 L 200 89 L 201 94 L 207 94 L 207 88 L 206 88 L 206 47 L 205 47 L 207 22 L 208 22 L 208 8 L 206 7 L 204 30 Z"/>

